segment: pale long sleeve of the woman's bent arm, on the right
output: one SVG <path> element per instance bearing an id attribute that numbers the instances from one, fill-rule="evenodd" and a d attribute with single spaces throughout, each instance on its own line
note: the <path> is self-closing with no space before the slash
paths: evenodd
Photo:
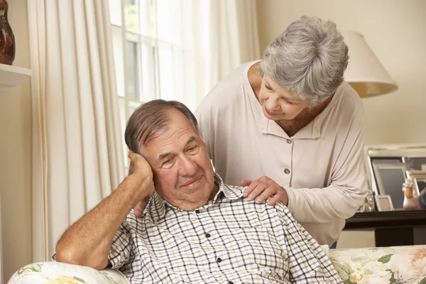
<path id="1" fill-rule="evenodd" d="M 345 143 L 334 166 L 332 182 L 324 188 L 284 187 L 288 209 L 298 222 L 327 223 L 348 219 L 363 204 L 367 195 L 364 164 L 364 114 L 353 117 Z"/>

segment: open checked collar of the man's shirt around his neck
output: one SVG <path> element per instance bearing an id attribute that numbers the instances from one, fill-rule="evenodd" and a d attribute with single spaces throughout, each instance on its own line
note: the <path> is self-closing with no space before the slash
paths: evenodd
<path id="1" fill-rule="evenodd" d="M 234 187 L 230 185 L 225 185 L 224 181 L 217 173 L 214 174 L 214 183 L 219 186 L 219 190 L 217 194 L 214 195 L 214 199 L 212 201 L 209 201 L 207 204 L 204 204 L 202 206 L 203 208 L 215 204 L 218 200 L 221 200 L 223 196 L 229 200 L 237 200 L 243 196 L 245 187 Z M 150 197 L 145 210 L 143 210 L 143 215 L 145 216 L 146 214 L 149 214 L 151 215 L 151 218 L 154 222 L 158 222 L 158 220 L 162 219 L 165 216 L 166 207 L 177 211 L 184 211 L 163 200 L 163 198 L 158 195 L 158 192 L 154 190 L 154 193 Z"/>

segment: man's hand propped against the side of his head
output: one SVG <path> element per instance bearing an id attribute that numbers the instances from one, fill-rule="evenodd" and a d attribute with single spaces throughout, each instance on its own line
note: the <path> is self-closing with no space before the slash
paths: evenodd
<path id="1" fill-rule="evenodd" d="M 148 204 L 149 197 L 154 192 L 153 171 L 142 155 L 129 151 L 129 177 L 136 180 L 136 187 L 141 192 L 143 199 L 133 208 L 136 217 L 141 217 L 142 212 Z"/>

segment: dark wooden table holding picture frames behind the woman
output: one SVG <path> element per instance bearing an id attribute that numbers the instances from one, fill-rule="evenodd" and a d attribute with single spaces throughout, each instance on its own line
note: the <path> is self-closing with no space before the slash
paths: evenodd
<path id="1" fill-rule="evenodd" d="M 414 244 L 415 227 L 426 228 L 426 210 L 359 212 L 346 219 L 344 229 L 374 229 L 376 246 L 405 246 Z"/>

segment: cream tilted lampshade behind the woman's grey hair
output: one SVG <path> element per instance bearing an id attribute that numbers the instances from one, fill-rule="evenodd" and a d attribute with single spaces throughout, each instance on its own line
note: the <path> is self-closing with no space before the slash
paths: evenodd
<path id="1" fill-rule="evenodd" d="M 381 65 L 361 33 L 342 31 L 342 35 L 349 47 L 349 63 L 344 80 L 360 97 L 373 97 L 398 89 L 398 84 Z"/>

